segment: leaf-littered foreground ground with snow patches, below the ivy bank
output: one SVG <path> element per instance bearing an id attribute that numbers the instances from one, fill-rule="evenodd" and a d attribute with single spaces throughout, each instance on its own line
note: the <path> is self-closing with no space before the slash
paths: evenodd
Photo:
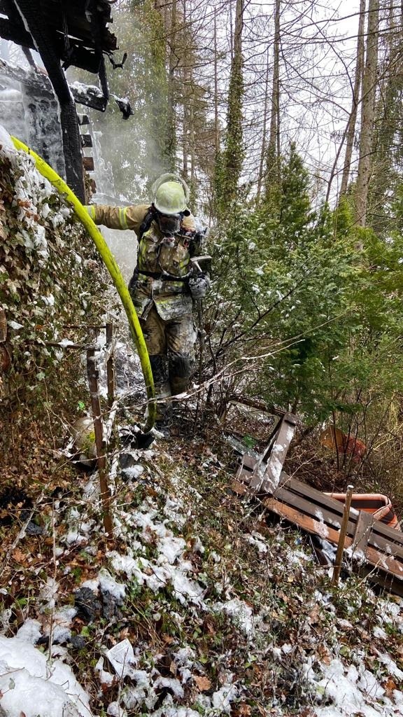
<path id="1" fill-rule="evenodd" d="M 403 715 L 402 600 L 347 570 L 333 589 L 307 536 L 234 496 L 234 450 L 193 415 L 116 449 L 113 539 L 98 474 L 46 437 L 6 469 L 2 717 Z"/>

